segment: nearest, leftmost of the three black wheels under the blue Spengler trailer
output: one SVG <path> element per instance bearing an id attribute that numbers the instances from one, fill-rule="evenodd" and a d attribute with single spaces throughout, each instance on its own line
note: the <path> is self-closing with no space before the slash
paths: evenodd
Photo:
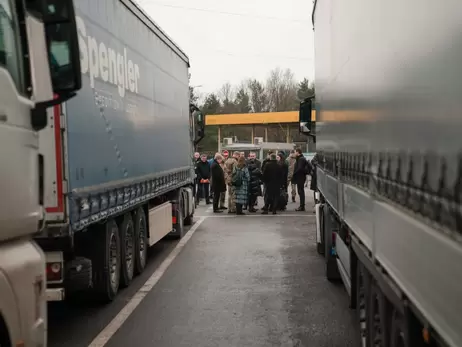
<path id="1" fill-rule="evenodd" d="M 110 219 L 93 232 L 93 289 L 96 299 L 110 302 L 114 300 L 120 284 L 119 228 L 117 223 Z"/>

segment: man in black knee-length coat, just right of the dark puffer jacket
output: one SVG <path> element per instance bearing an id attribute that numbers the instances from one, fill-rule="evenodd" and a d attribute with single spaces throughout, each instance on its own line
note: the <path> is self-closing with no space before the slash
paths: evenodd
<path id="1" fill-rule="evenodd" d="M 273 214 L 276 214 L 278 207 L 277 202 L 283 180 L 284 173 L 282 166 L 277 162 L 276 155 L 271 154 L 270 159 L 265 164 L 265 170 L 263 171 L 263 182 L 266 186 L 266 199 L 262 214 L 268 214 L 269 209 L 271 209 Z"/>

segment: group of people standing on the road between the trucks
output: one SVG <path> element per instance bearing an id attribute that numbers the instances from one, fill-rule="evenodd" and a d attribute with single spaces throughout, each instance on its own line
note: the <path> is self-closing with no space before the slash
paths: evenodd
<path id="1" fill-rule="evenodd" d="M 270 211 L 276 214 L 278 210 L 286 208 L 289 187 L 292 201 L 295 202 L 296 192 L 300 197 L 300 206 L 296 211 L 305 211 L 305 182 L 312 167 L 300 149 L 291 151 L 287 160 L 282 152 L 269 152 L 267 158 L 260 162 L 254 152 L 246 159 L 243 152 L 237 151 L 232 156 L 227 151 L 216 153 L 211 163 L 205 154 L 197 152 L 194 159 L 196 201 L 198 203 L 198 198 L 204 197 L 206 204 L 213 204 L 214 213 L 228 210 L 230 214 L 243 215 L 246 209 L 255 213 L 258 197 L 263 196 L 265 204 L 262 214 Z M 225 206 L 226 191 L 228 207 Z"/>

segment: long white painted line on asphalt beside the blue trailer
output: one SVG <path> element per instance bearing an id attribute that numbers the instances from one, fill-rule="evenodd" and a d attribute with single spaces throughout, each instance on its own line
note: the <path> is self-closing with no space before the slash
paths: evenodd
<path id="1" fill-rule="evenodd" d="M 115 316 L 112 321 L 96 336 L 88 347 L 103 347 L 105 346 L 111 337 L 119 330 L 122 324 L 127 320 L 128 317 L 135 311 L 141 301 L 151 291 L 151 289 L 157 284 L 160 278 L 164 275 L 173 260 L 180 254 L 186 243 L 191 239 L 194 232 L 202 224 L 207 216 L 202 216 L 194 223 L 189 229 L 186 235 L 177 243 L 172 252 L 168 257 L 160 264 L 160 266 L 154 271 L 151 277 L 143 284 L 143 286 L 136 292 L 136 294 L 130 299 L 130 301 L 124 306 L 124 308 Z"/>

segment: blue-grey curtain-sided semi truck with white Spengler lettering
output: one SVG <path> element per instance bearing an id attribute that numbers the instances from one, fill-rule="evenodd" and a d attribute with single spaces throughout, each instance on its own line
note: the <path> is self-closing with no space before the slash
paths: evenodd
<path id="1" fill-rule="evenodd" d="M 47 299 L 112 300 L 194 214 L 186 54 L 131 0 L 76 0 L 82 89 L 39 134 Z M 59 59 L 59 57 L 57 57 Z"/>

